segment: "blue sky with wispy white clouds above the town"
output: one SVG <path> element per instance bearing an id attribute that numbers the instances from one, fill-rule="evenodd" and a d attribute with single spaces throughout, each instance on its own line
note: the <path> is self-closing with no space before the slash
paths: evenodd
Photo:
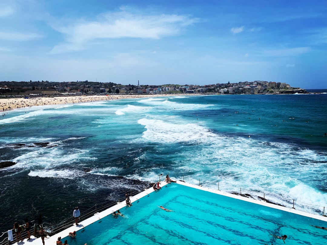
<path id="1" fill-rule="evenodd" d="M 327 2 L 0 1 L 0 81 L 327 88 Z"/>

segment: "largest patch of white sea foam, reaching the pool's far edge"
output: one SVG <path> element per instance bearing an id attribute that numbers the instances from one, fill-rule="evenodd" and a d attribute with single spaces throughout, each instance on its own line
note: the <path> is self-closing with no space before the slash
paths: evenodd
<path id="1" fill-rule="evenodd" d="M 265 192 L 266 198 L 286 206 L 290 206 L 293 199 L 318 206 L 327 204 L 327 194 L 302 182 L 310 173 L 327 169 L 326 155 L 287 143 L 223 137 L 192 123 L 170 123 L 145 118 L 138 123 L 145 125 L 143 138 L 150 142 L 187 143 L 189 147 L 194 143 L 202 144 L 194 151 L 188 149 L 178 153 L 182 160 L 175 161 L 172 173 L 178 179 L 182 179 L 184 172 L 191 172 L 185 181 L 195 185 L 200 179 L 206 187 L 217 189 L 219 181 L 221 190 L 239 192 L 242 188 L 243 193 L 262 197 Z M 160 151 L 160 145 L 158 148 Z M 131 177 L 148 181 L 158 178 L 156 175 L 160 169 L 152 171 L 147 172 L 148 179 L 142 177 L 142 173 Z M 312 205 L 303 204 L 302 210 L 309 209 L 312 209 Z"/>

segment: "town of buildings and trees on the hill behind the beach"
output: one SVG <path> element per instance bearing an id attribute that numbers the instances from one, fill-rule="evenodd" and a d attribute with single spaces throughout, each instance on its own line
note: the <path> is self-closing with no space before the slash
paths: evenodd
<path id="1" fill-rule="evenodd" d="M 217 83 L 210 85 L 121 85 L 112 82 L 49 82 L 49 81 L 2 81 L 0 96 L 60 96 L 83 94 L 293 94 L 306 90 L 293 88 L 280 82 L 252 81 L 238 83 Z"/>

